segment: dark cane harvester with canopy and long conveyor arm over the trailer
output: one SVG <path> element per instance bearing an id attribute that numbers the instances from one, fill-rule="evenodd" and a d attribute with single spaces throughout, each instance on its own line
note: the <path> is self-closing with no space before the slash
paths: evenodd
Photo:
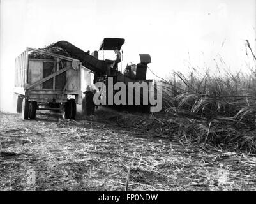
<path id="1" fill-rule="evenodd" d="M 93 84 L 96 84 L 96 82 L 103 82 L 106 87 L 110 84 L 110 79 L 112 84 L 116 84 L 117 82 L 123 82 L 126 85 L 126 103 L 121 105 L 116 105 L 113 103 L 113 99 L 109 98 L 109 89 L 106 90 L 106 106 L 110 106 L 112 108 L 117 108 L 118 110 L 128 110 L 130 112 L 149 112 L 150 105 L 149 105 L 149 82 L 152 82 L 152 80 L 146 80 L 146 73 L 147 73 L 147 64 L 151 63 L 151 57 L 149 54 L 139 54 L 140 56 L 140 62 L 138 64 L 130 64 L 127 65 L 124 73 L 121 73 L 121 71 L 118 70 L 117 65 L 122 59 L 122 54 L 120 52 L 122 45 L 124 44 L 123 38 L 104 38 L 100 45 L 99 51 L 105 51 L 105 50 L 113 50 L 116 55 L 116 60 L 109 60 L 109 59 L 99 59 L 99 52 L 94 51 L 91 54 L 89 52 L 85 52 L 84 50 L 81 50 L 78 47 L 75 47 L 71 43 L 68 43 L 67 41 L 59 41 L 54 46 L 63 48 L 68 52 L 68 54 L 71 55 L 71 57 L 75 59 L 79 59 L 80 62 L 82 62 L 82 66 L 89 69 L 94 74 L 94 80 Z M 129 83 L 133 82 L 139 82 L 139 84 L 142 84 L 142 82 L 146 82 L 147 84 L 147 90 L 141 91 L 136 90 L 133 88 L 133 90 L 130 90 Z M 144 83 L 145 84 L 145 83 Z M 111 95 L 114 96 L 116 92 L 119 90 L 114 90 Z M 129 94 L 133 94 L 133 103 L 128 103 L 128 96 Z M 139 92 L 140 95 L 140 103 L 136 103 L 135 101 L 135 95 L 136 92 Z M 147 94 L 143 94 L 143 92 L 147 92 Z M 93 91 L 86 91 L 85 92 L 85 98 L 83 98 L 82 103 L 82 110 L 84 113 L 88 112 L 87 110 L 90 109 L 90 107 L 94 107 L 93 104 L 93 95 L 95 92 Z M 147 98 L 147 104 L 142 104 L 143 99 Z M 111 102 L 110 102 L 111 101 Z M 85 102 L 85 103 L 84 103 Z M 103 105 L 104 106 L 104 105 Z"/>

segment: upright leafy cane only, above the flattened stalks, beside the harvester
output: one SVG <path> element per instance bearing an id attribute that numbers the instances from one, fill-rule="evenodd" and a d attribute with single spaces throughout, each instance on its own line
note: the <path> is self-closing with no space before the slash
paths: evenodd
<path id="1" fill-rule="evenodd" d="M 189 73 L 174 71 L 163 82 L 163 110 L 167 115 L 195 118 L 227 118 L 255 123 L 256 70 L 232 73 L 225 68 L 192 68 Z M 216 74 L 217 73 L 217 74 Z"/>

